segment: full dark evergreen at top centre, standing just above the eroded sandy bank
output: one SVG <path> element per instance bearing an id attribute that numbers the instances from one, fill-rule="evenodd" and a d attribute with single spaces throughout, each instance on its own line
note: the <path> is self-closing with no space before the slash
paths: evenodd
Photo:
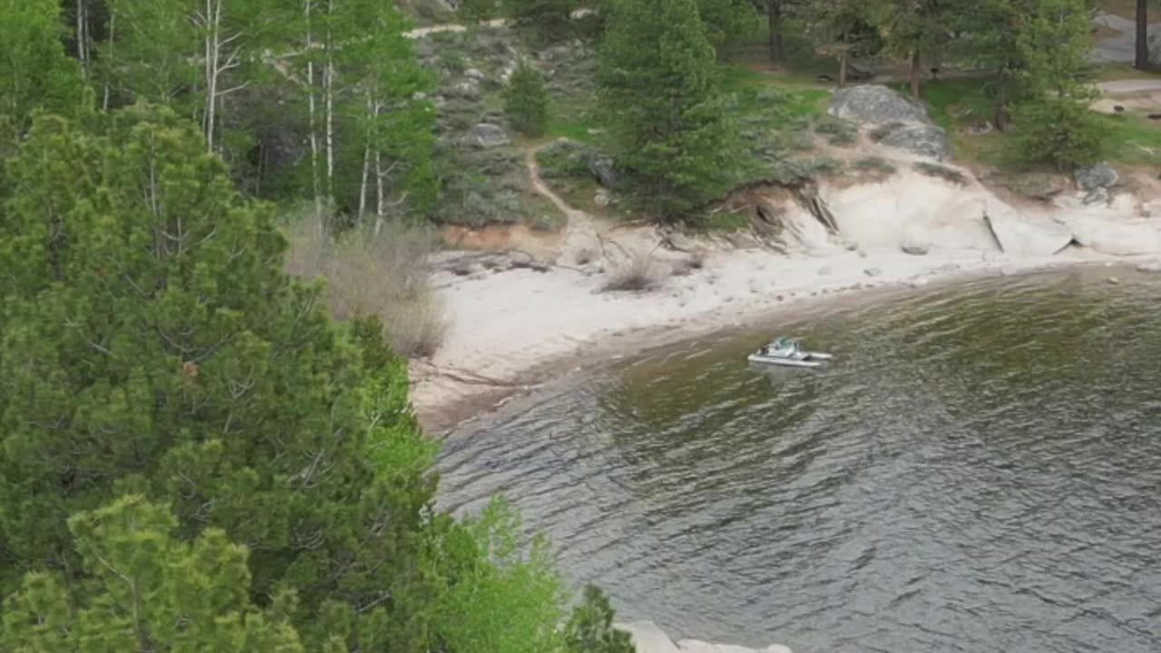
<path id="1" fill-rule="evenodd" d="M 600 53 L 600 101 L 618 163 L 648 209 L 675 218 L 738 170 L 736 125 L 713 81 L 694 0 L 618 0 Z"/>

